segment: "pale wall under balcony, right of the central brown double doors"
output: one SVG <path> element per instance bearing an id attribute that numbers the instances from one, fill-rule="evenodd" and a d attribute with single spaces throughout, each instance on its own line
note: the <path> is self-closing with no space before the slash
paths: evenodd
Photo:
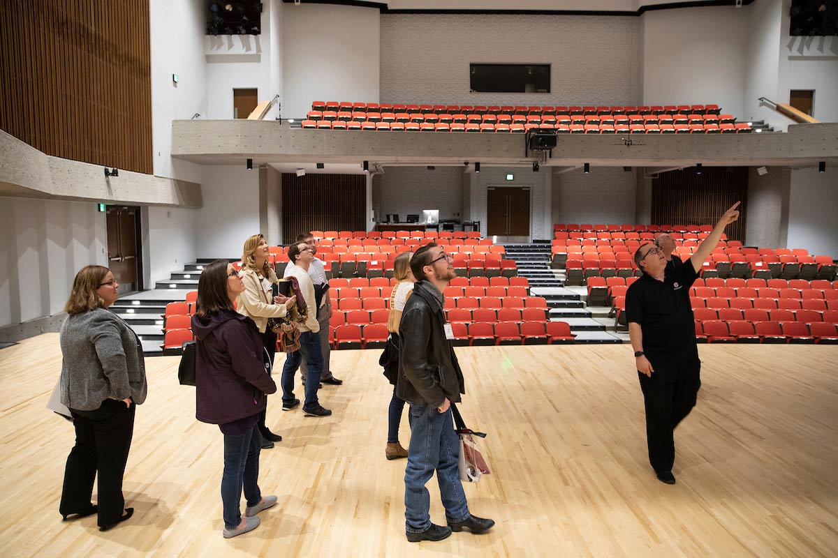
<path id="1" fill-rule="evenodd" d="M 634 223 L 636 172 L 596 166 L 589 174 L 581 168 L 557 174 L 553 177 L 559 195 L 556 223 Z"/>

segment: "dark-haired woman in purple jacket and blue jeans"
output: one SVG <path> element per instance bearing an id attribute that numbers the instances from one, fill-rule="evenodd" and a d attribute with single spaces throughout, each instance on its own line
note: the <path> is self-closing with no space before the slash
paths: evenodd
<path id="1" fill-rule="evenodd" d="M 277 392 L 263 358 L 262 336 L 253 320 L 237 313 L 235 298 L 245 290 L 238 272 L 225 260 L 209 264 L 198 282 L 197 311 L 192 330 L 195 351 L 196 417 L 218 424 L 224 433 L 224 537 L 256 529 L 262 509 L 277 503 L 261 495 L 259 453 L 261 433 L 256 423 L 265 410 L 266 394 Z M 241 517 L 241 489 L 247 508 Z"/>

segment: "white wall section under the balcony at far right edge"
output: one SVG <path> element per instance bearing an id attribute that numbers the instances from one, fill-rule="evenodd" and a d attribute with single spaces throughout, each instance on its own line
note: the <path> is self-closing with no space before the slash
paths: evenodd
<path id="1" fill-rule="evenodd" d="M 791 171 L 789 248 L 838 259 L 838 168 Z"/>

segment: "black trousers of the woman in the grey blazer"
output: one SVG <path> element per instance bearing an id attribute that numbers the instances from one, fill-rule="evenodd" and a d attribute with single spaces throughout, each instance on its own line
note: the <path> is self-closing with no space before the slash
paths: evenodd
<path id="1" fill-rule="evenodd" d="M 96 411 L 70 409 L 75 446 L 67 456 L 61 514 L 77 514 L 91 507 L 93 480 L 99 474 L 99 526 L 113 525 L 122 517 L 125 499 L 122 477 L 134 433 L 134 412 L 122 401 L 106 399 Z"/>

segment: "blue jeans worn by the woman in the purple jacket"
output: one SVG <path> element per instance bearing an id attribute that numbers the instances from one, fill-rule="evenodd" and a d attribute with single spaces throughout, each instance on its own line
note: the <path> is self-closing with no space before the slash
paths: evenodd
<path id="1" fill-rule="evenodd" d="M 259 427 L 241 436 L 224 436 L 224 474 L 221 476 L 221 502 L 224 504 L 224 526 L 235 529 L 241 523 L 241 489 L 244 485 L 247 505 L 261 502 L 259 490 Z"/>

